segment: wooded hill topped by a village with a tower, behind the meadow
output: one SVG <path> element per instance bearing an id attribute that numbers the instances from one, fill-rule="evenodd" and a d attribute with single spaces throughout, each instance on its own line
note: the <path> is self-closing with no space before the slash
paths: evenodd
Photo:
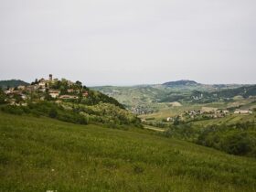
<path id="1" fill-rule="evenodd" d="M 0 89 L 0 112 L 46 116 L 68 123 L 141 126 L 140 119 L 112 97 L 87 88 L 79 80 L 53 79 L 51 74 L 48 79 Z"/>

